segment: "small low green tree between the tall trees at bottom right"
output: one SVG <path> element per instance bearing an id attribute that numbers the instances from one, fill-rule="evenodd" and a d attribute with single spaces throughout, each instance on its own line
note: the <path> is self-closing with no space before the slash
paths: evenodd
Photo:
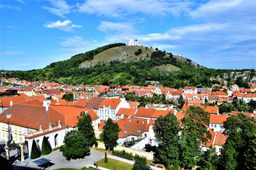
<path id="1" fill-rule="evenodd" d="M 200 161 L 198 162 L 199 169 L 204 170 L 217 170 L 219 164 L 219 157 L 216 154 L 216 149 L 211 146 L 209 150 L 205 151 Z"/>

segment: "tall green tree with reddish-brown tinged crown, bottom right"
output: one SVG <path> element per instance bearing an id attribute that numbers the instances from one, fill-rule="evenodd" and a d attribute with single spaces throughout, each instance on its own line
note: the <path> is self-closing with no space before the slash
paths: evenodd
<path id="1" fill-rule="evenodd" d="M 211 139 L 211 134 L 205 125 L 209 125 L 209 113 L 199 107 L 189 107 L 186 116 L 182 119 L 181 167 L 191 169 L 200 160 L 200 144 L 207 141 L 207 137 Z"/>

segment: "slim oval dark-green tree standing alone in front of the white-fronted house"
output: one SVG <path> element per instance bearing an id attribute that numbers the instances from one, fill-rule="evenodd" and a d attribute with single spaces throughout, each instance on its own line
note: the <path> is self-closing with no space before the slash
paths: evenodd
<path id="1" fill-rule="evenodd" d="M 113 123 L 113 121 L 108 118 L 106 125 L 103 127 L 102 138 L 105 144 L 106 150 L 113 150 L 117 145 L 118 132 L 120 129 L 117 123 Z"/>

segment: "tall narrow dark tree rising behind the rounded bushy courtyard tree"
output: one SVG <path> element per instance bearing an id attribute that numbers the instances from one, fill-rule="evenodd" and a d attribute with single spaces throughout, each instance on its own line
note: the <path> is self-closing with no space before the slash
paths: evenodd
<path id="1" fill-rule="evenodd" d="M 85 112 L 80 113 L 81 117 L 78 118 L 78 123 L 77 123 L 77 130 L 82 132 L 84 137 L 86 138 L 88 145 L 93 146 L 98 146 L 97 139 L 95 137 L 95 133 L 92 127 L 92 118 L 89 114 Z"/>

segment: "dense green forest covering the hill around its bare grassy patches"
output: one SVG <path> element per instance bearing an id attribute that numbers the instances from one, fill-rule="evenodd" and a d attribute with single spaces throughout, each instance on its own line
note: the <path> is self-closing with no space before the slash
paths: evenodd
<path id="1" fill-rule="evenodd" d="M 12 71 L 8 72 L 6 76 L 27 81 L 52 81 L 67 84 L 147 85 L 146 81 L 159 81 L 163 86 L 180 88 L 184 86 L 211 86 L 211 84 L 218 82 L 211 81 L 211 77 L 221 76 L 221 73 L 237 71 L 205 68 L 204 66 L 195 65 L 190 59 L 183 58 L 181 60 L 173 56 L 172 53 L 158 49 L 152 52 L 149 59 L 140 59 L 128 63 L 110 61 L 109 63 L 98 63 L 88 68 L 80 66 L 83 61 L 92 60 L 96 54 L 122 45 L 124 43 L 105 45 L 95 50 L 77 54 L 65 61 L 51 63 L 43 69 Z M 152 69 L 154 66 L 169 64 L 179 67 L 180 70 L 163 72 Z M 254 77 L 255 70 L 249 71 L 249 76 Z M 235 80 L 230 78 L 228 81 Z"/>

